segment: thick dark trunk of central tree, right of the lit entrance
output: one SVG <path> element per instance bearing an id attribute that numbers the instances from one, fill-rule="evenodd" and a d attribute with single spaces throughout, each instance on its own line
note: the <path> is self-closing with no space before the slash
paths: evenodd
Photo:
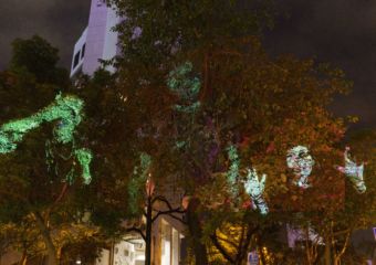
<path id="1" fill-rule="evenodd" d="M 202 237 L 202 229 L 200 225 L 199 216 L 196 212 L 199 205 L 198 199 L 190 199 L 188 209 L 187 209 L 187 224 L 189 234 L 192 239 L 192 248 L 195 254 L 195 259 L 197 265 L 207 265 L 208 264 L 208 254 L 206 246 L 201 243 Z"/>

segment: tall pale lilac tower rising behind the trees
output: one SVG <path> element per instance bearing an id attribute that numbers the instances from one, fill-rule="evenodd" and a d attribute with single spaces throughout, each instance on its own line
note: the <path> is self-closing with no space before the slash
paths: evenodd
<path id="1" fill-rule="evenodd" d="M 111 60 L 118 54 L 118 33 L 112 29 L 119 22 L 121 18 L 105 0 L 92 0 L 88 24 L 74 45 L 71 78 L 79 73 L 93 75 L 101 66 L 100 60 Z M 112 66 L 107 70 L 114 71 Z"/>

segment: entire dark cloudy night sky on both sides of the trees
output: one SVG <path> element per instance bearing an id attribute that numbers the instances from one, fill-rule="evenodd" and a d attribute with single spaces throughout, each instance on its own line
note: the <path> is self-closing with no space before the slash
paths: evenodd
<path id="1" fill-rule="evenodd" d="M 75 40 L 87 24 L 90 0 L 0 0 L 0 70 L 14 38 L 39 34 L 60 49 L 70 67 Z M 358 127 L 376 127 L 376 1 L 275 0 L 280 15 L 267 32 L 267 50 L 315 57 L 345 71 L 354 92 L 336 98 L 338 115 L 358 115 Z"/>

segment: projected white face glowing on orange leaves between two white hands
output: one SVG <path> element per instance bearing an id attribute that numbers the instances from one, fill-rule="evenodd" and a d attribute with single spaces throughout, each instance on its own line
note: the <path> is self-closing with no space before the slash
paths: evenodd
<path id="1" fill-rule="evenodd" d="M 302 189 L 310 188 L 311 184 L 309 183 L 309 177 L 315 161 L 309 153 L 309 148 L 304 146 L 295 146 L 294 148 L 291 148 L 288 151 L 286 162 L 288 167 L 294 171 L 296 177 L 299 177 L 295 184 Z"/>

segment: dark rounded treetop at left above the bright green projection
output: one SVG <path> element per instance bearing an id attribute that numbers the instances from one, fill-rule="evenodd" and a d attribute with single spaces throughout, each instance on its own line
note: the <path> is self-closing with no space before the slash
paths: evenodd
<path id="1" fill-rule="evenodd" d="M 15 40 L 11 65 L 0 72 L 0 120 L 29 116 L 70 87 L 66 70 L 56 66 L 58 50 L 34 36 Z"/>

